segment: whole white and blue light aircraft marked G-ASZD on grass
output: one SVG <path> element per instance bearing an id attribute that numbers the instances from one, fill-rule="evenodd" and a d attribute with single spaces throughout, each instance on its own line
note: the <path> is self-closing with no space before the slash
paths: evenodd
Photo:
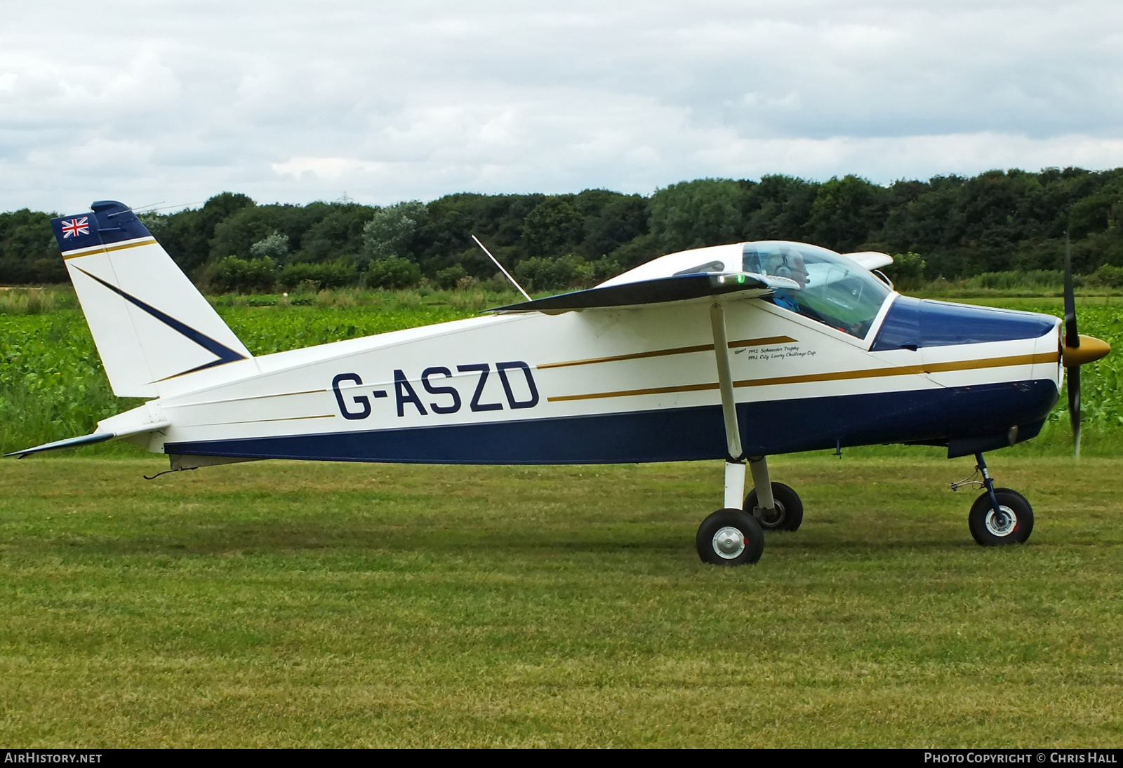
<path id="1" fill-rule="evenodd" d="M 148 401 L 11 456 L 119 438 L 168 455 L 173 470 L 724 458 L 724 503 L 696 537 L 716 565 L 755 563 L 765 529 L 803 520 L 768 456 L 870 444 L 975 455 L 971 534 L 1025 541 L 1032 508 L 995 487 L 983 454 L 1038 433 L 1066 368 L 1078 428 L 1079 365 L 1110 350 L 1076 332 L 1070 278 L 1062 328 L 901 295 L 874 272 L 885 254 L 766 241 L 670 254 L 484 317 L 255 357 L 127 205 L 95 202 L 53 226 L 113 392 Z"/>

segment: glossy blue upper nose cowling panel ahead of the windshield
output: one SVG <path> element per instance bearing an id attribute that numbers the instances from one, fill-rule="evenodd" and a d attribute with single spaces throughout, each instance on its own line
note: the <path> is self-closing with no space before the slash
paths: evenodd
<path id="1" fill-rule="evenodd" d="M 1053 318 L 1033 312 L 896 296 L 870 351 L 1037 339 L 1056 324 Z"/>

